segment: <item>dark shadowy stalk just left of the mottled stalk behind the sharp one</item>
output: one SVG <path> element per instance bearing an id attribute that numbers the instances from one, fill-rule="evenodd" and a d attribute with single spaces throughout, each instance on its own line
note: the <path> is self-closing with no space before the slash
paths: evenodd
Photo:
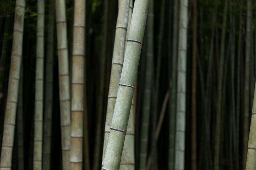
<path id="1" fill-rule="evenodd" d="M 109 13 L 109 1 L 104 3 L 104 17 L 103 17 L 103 28 L 102 28 L 102 48 L 99 59 L 99 80 L 97 90 L 97 116 L 96 116 L 96 130 L 95 130 L 95 145 L 94 145 L 94 159 L 93 159 L 93 170 L 98 170 L 100 167 L 101 160 L 101 149 L 102 149 L 102 116 L 104 107 L 104 86 L 105 86 L 105 67 L 106 67 L 106 56 L 107 56 L 107 37 L 108 37 L 108 13 Z M 105 110 L 104 110 L 105 113 Z"/>

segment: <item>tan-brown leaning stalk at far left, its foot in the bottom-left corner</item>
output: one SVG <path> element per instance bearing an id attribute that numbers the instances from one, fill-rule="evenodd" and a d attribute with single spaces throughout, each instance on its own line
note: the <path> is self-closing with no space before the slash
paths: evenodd
<path id="1" fill-rule="evenodd" d="M 7 102 L 6 102 L 6 110 L 5 110 L 5 118 L 4 118 L 0 170 L 11 170 L 11 164 L 12 164 L 11 163 L 12 149 L 13 149 L 13 142 L 14 142 L 16 108 L 17 108 L 17 102 L 18 102 L 20 64 L 21 64 L 21 58 L 22 58 L 24 11 L 25 11 L 25 0 L 16 0 L 11 66 L 10 66 Z"/>

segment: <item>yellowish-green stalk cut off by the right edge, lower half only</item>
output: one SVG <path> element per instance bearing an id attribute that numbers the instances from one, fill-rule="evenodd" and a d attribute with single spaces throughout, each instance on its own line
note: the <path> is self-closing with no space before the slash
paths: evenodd
<path id="1" fill-rule="evenodd" d="M 253 106 L 252 106 L 252 119 L 248 142 L 247 160 L 245 170 L 256 169 L 256 83 L 254 88 Z"/>

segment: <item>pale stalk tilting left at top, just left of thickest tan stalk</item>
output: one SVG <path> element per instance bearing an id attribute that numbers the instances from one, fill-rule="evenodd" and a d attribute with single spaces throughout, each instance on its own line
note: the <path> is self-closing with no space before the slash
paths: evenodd
<path id="1" fill-rule="evenodd" d="M 57 47 L 59 66 L 60 124 L 63 169 L 69 170 L 70 88 L 65 0 L 56 0 Z"/>

